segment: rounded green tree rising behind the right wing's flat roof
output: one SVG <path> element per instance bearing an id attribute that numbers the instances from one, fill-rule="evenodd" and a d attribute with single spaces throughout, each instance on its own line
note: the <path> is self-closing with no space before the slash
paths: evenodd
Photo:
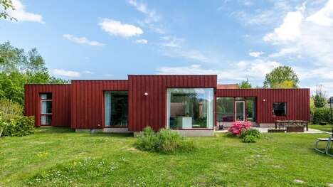
<path id="1" fill-rule="evenodd" d="M 274 68 L 272 72 L 266 74 L 263 86 L 271 88 L 289 88 L 298 87 L 299 82 L 300 80 L 294 70 L 292 70 L 291 67 L 284 65 Z"/>

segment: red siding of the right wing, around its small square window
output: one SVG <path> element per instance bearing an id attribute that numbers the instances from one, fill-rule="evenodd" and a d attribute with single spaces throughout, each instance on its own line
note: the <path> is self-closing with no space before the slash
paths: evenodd
<path id="1" fill-rule="evenodd" d="M 216 97 L 256 97 L 258 123 L 273 123 L 275 120 L 308 121 L 310 119 L 310 89 L 307 88 L 216 90 Z M 287 102 L 285 117 L 273 116 L 273 102 Z"/>

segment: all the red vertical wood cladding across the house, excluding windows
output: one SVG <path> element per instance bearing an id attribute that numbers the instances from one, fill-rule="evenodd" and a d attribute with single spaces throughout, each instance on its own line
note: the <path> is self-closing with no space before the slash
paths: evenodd
<path id="1" fill-rule="evenodd" d="M 216 97 L 256 97 L 258 123 L 278 119 L 310 118 L 309 89 L 217 89 L 216 75 L 129 75 L 129 80 L 73 80 L 71 85 L 26 85 L 25 114 L 41 125 L 41 93 L 52 93 L 52 126 L 73 129 L 104 127 L 104 91 L 128 91 L 128 128 L 138 132 L 146 126 L 166 127 L 167 88 L 213 88 Z M 145 96 L 144 92 L 148 95 Z M 264 101 L 265 100 L 265 101 Z M 273 102 L 287 102 L 285 117 L 273 116 Z"/>

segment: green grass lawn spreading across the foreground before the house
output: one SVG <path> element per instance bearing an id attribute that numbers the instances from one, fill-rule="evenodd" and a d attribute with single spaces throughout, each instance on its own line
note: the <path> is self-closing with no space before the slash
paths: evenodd
<path id="1" fill-rule="evenodd" d="M 40 128 L 0 139 L 0 186 L 327 186 L 333 159 L 313 150 L 327 134 L 191 138 L 192 153 L 134 149 L 134 137 Z M 305 181 L 302 185 L 292 181 Z"/>

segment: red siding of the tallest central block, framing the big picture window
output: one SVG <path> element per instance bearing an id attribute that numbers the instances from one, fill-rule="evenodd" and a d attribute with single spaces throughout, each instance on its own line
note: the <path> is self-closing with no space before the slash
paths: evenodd
<path id="1" fill-rule="evenodd" d="M 216 80 L 216 75 L 129 75 L 129 130 L 166 127 L 166 88 L 216 89 Z M 144 96 L 144 92 L 148 95 Z"/>

